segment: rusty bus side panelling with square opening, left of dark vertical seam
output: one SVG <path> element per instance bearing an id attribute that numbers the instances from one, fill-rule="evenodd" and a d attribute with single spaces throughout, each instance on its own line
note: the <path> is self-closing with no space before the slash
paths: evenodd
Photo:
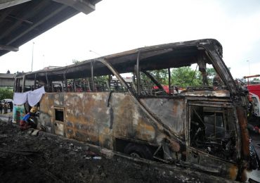
<path id="1" fill-rule="evenodd" d="M 55 133 L 58 109 L 63 112 L 60 126 L 64 127 L 65 137 L 112 149 L 108 96 L 109 93 L 46 93 L 40 103 L 41 125 Z"/>

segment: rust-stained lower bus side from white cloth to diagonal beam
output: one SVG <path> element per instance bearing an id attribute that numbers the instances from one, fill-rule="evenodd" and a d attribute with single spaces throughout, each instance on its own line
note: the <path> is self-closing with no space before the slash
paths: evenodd
<path id="1" fill-rule="evenodd" d="M 57 103 L 56 100 L 63 101 L 63 95 L 64 105 L 61 105 L 63 102 Z M 150 123 L 132 96 L 114 93 L 110 97 L 109 106 L 108 97 L 109 93 L 45 94 L 41 101 L 42 124 L 54 129 L 63 127 L 61 124 L 57 127 L 53 125 L 57 123 L 53 116 L 58 104 L 65 108 L 64 129 L 68 138 L 110 149 L 114 136 L 138 139 L 150 144 L 160 143 L 164 135 Z"/>

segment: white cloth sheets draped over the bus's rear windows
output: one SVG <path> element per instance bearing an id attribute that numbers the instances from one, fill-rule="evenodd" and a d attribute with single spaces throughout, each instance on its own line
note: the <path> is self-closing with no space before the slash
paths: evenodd
<path id="1" fill-rule="evenodd" d="M 25 93 L 15 93 L 13 96 L 13 103 L 16 105 L 22 105 L 28 101 L 30 106 L 35 106 L 41 100 L 43 94 L 45 94 L 44 87 Z"/>

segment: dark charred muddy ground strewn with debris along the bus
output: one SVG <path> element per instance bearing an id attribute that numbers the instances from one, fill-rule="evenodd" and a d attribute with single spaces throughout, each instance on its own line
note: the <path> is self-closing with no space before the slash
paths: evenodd
<path id="1" fill-rule="evenodd" d="M 94 153 L 45 132 L 32 136 L 0 120 L 0 182 L 209 182 L 193 170 L 160 165 Z M 223 179 L 211 177 L 210 182 Z"/>

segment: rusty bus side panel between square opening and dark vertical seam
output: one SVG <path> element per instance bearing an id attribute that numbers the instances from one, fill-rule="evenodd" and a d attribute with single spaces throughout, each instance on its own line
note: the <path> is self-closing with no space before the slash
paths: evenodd
<path id="1" fill-rule="evenodd" d="M 111 149 L 109 93 L 65 94 L 66 136 Z"/>

